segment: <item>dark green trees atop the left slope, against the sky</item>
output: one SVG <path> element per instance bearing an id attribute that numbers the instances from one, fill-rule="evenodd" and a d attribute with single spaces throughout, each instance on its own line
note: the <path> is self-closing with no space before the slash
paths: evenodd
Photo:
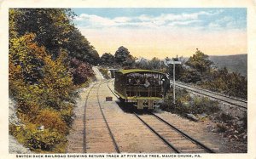
<path id="1" fill-rule="evenodd" d="M 10 35 L 13 30 L 18 37 L 32 32 L 35 41 L 44 46 L 53 59 L 67 50 L 70 58 L 78 58 L 90 64 L 97 64 L 99 55 L 81 32 L 72 24 L 71 9 L 10 9 Z"/>

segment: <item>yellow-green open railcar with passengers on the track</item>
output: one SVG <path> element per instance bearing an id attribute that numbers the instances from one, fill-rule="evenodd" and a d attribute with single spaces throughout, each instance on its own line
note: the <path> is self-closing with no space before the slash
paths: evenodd
<path id="1" fill-rule="evenodd" d="M 114 92 L 119 99 L 137 107 L 154 109 L 162 102 L 170 82 L 164 73 L 149 70 L 120 70 L 115 72 Z"/>

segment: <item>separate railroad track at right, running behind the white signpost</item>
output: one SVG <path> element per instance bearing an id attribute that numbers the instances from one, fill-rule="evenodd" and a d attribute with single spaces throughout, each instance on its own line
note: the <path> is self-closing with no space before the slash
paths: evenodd
<path id="1" fill-rule="evenodd" d="M 172 84 L 172 82 L 171 82 L 171 84 Z M 217 99 L 219 101 L 222 101 L 222 102 L 230 104 L 230 105 L 236 105 L 242 109 L 247 109 L 247 101 L 242 100 L 242 99 L 236 99 L 234 97 L 229 97 L 224 94 L 213 93 L 212 91 L 202 89 L 202 88 L 191 87 L 187 84 L 183 84 L 180 82 L 176 83 L 176 87 L 177 88 L 185 88 L 185 89 L 189 90 L 189 92 L 201 94 L 201 95 L 210 97 L 212 99 Z"/>

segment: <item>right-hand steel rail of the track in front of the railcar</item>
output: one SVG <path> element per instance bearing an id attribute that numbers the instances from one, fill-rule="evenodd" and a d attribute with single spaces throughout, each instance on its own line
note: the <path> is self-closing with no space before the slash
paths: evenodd
<path id="1" fill-rule="evenodd" d="M 151 115 L 155 116 L 157 119 L 159 119 L 161 122 L 166 123 L 169 127 L 177 131 L 178 133 L 181 133 L 185 138 L 189 139 L 196 145 L 200 145 L 204 150 L 207 150 L 207 152 L 215 153 L 212 149 L 208 148 L 207 145 L 203 145 L 200 141 L 190 137 L 187 133 L 184 133 L 183 131 L 179 130 L 178 128 L 174 127 L 171 123 L 166 122 L 166 120 L 162 119 L 160 116 L 155 115 L 153 112 L 148 111 Z"/>

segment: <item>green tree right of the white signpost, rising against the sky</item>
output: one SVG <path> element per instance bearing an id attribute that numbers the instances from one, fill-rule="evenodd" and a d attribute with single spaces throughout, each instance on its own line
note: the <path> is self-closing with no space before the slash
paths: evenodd
<path id="1" fill-rule="evenodd" d="M 209 56 L 207 54 L 203 54 L 198 48 L 196 48 L 195 54 L 189 58 L 186 62 L 186 65 L 196 69 L 201 73 L 205 73 L 210 71 L 210 65 L 212 65 L 212 61 L 208 60 Z"/>

